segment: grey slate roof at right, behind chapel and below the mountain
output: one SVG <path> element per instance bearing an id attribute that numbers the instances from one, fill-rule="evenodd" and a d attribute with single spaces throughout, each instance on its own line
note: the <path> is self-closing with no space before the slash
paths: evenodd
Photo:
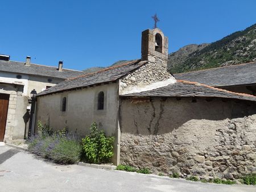
<path id="1" fill-rule="evenodd" d="M 178 73 L 174 77 L 214 87 L 256 84 L 256 62 Z"/>

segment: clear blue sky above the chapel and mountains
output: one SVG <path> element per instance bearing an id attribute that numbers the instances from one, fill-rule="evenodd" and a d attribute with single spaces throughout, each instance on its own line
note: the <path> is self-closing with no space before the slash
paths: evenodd
<path id="1" fill-rule="evenodd" d="M 108 66 L 141 58 L 141 32 L 155 13 L 173 52 L 251 26 L 255 9 L 255 0 L 1 1 L 0 53 L 77 70 Z"/>

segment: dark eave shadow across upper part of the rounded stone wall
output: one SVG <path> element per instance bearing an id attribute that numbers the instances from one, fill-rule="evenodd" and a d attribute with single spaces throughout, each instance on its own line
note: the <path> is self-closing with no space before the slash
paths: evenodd
<path id="1" fill-rule="evenodd" d="M 151 98 L 139 101 L 122 98 L 119 122 L 122 133 L 160 135 L 197 120 L 215 121 L 256 114 L 253 102 L 215 98 Z M 198 121 L 201 120 L 201 121 Z"/>

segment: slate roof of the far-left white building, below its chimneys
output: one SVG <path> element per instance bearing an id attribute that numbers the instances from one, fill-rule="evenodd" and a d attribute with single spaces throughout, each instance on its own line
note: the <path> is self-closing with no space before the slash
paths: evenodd
<path id="1" fill-rule="evenodd" d="M 31 64 L 31 66 L 25 66 L 25 62 L 3 60 L 0 60 L 0 71 L 19 74 L 30 74 L 34 76 L 55 77 L 61 79 L 67 79 L 84 74 L 79 70 L 63 69 L 63 72 L 59 72 L 57 68 L 53 66 L 38 64 Z"/>

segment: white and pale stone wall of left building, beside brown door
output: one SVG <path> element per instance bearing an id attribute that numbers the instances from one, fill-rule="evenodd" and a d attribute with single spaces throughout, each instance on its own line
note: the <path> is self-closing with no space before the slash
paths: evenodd
<path id="1" fill-rule="evenodd" d="M 0 84 L 4 83 L 0 88 L 0 93 L 11 94 L 15 96 L 15 101 L 10 100 L 9 102 L 9 111 L 12 111 L 13 114 L 10 114 L 9 119 L 6 123 L 6 140 L 11 139 L 23 139 L 24 132 L 28 131 L 27 122 L 27 106 L 30 106 L 28 99 L 30 98 L 30 92 L 35 89 L 38 93 L 46 89 L 46 86 L 54 86 L 61 81 L 60 79 L 51 78 L 51 77 L 40 77 L 40 76 L 28 76 L 27 74 L 20 74 L 22 78 L 18 79 L 16 76 L 19 73 L 9 73 L 9 72 L 0 72 Z M 48 79 L 51 78 L 52 81 L 48 82 Z M 18 85 L 18 86 L 17 86 Z M 19 87 L 10 88 L 10 87 Z M 13 96 L 10 97 L 13 99 Z M 14 105 L 15 104 L 15 105 Z"/>

